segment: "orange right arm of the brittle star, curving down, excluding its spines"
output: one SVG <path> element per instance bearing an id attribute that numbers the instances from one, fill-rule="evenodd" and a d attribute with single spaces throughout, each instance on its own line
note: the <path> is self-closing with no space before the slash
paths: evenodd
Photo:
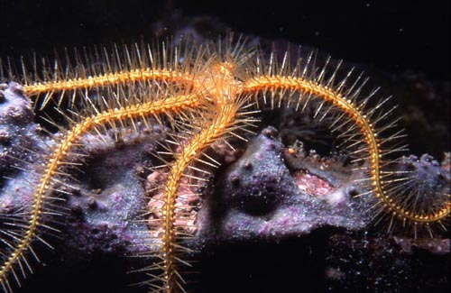
<path id="1" fill-rule="evenodd" d="M 401 206 L 397 201 L 391 198 L 389 192 L 384 190 L 384 181 L 382 174 L 382 151 L 381 139 L 372 124 L 372 121 L 358 108 L 355 103 L 343 96 L 339 91 L 332 87 L 327 87 L 319 82 L 305 78 L 285 77 L 285 76 L 261 76 L 252 78 L 244 82 L 241 87 L 242 94 L 253 94 L 257 92 L 272 91 L 298 91 L 302 94 L 318 96 L 320 99 L 336 106 L 343 111 L 353 122 L 358 125 L 361 133 L 364 135 L 369 155 L 371 184 L 374 197 L 380 198 L 382 205 L 386 206 L 393 216 L 399 216 L 404 220 L 409 220 L 413 224 L 426 224 L 439 222 L 450 215 L 451 201 L 447 201 L 443 206 L 438 206 L 430 213 L 414 213 Z M 282 98 L 282 97 L 281 97 Z"/>

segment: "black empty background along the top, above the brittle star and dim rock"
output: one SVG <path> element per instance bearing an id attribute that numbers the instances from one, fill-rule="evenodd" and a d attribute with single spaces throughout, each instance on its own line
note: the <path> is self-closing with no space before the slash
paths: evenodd
<path id="1" fill-rule="evenodd" d="M 334 58 L 449 78 L 448 1 L 1 1 L 0 56 L 136 40 L 175 10 Z"/>

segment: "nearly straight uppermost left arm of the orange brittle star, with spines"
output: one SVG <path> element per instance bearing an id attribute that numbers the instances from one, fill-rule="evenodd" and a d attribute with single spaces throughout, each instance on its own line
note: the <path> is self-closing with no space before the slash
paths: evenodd
<path id="1" fill-rule="evenodd" d="M 42 59 L 40 62 L 34 56 L 28 62 L 22 60 L 21 83 L 25 94 L 45 95 L 39 103 L 41 109 L 54 94 L 59 94 L 60 105 L 62 97 L 70 93 L 73 104 L 78 91 L 115 85 L 133 86 L 135 82 L 153 81 L 182 88 L 196 87 L 195 75 L 204 65 L 205 50 L 202 46 L 194 50 L 195 47 L 190 44 L 190 41 L 185 41 L 179 46 L 168 46 L 163 42 L 153 48 L 143 43 L 114 45 L 111 49 L 97 46 L 82 50 L 75 48 L 73 56 L 65 50 L 64 62 L 61 62 L 58 53 L 55 53 L 53 61 Z M 30 65 L 32 72 L 27 70 Z M 16 79 L 14 65 L 8 62 L 7 66 L 9 79 Z"/>

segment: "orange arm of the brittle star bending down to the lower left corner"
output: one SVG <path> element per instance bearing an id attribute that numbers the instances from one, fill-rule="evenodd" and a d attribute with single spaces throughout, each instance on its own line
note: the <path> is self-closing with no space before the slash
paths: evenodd
<path id="1" fill-rule="evenodd" d="M 45 226 L 42 224 L 41 219 L 42 215 L 46 214 L 44 206 L 48 197 L 48 192 L 55 181 L 55 177 L 60 174 L 60 168 L 64 167 L 69 151 L 72 150 L 73 146 L 77 144 L 85 133 L 88 133 L 98 126 L 115 124 L 130 119 L 144 119 L 152 115 L 179 114 L 187 109 L 197 108 L 201 103 L 201 97 L 196 94 L 188 96 L 171 96 L 148 103 L 109 109 L 100 114 L 83 118 L 78 124 L 74 124 L 69 131 L 65 133 L 54 151 L 52 151 L 49 160 L 47 160 L 41 179 L 32 196 L 32 209 L 29 220 L 24 226 L 23 233 L 15 235 L 14 243 L 9 245 L 11 247 L 11 252 L 7 253 L 8 255 L 5 256 L 5 262 L 0 267 L 0 284 L 5 289 L 5 292 L 10 291 L 10 289 L 7 289 L 10 288 L 10 286 L 6 279 L 9 273 L 12 273 L 14 279 L 19 282 L 14 271 L 14 266 L 19 265 L 22 270 L 22 260 L 24 260 L 23 253 L 31 250 L 31 244 L 35 239 L 39 239 L 43 242 L 38 235 L 38 228 L 40 226 Z"/>

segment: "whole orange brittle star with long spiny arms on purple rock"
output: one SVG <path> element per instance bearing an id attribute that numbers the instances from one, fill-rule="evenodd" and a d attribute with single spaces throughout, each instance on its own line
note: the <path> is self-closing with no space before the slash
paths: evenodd
<path id="1" fill-rule="evenodd" d="M 360 162 L 355 169 L 366 172 L 364 181 L 371 190 L 361 196 L 378 198 L 373 206 L 375 214 L 383 212 L 389 230 L 398 219 L 412 224 L 415 233 L 418 226 L 432 233 L 430 224 L 446 228 L 442 222 L 451 210 L 448 195 L 434 205 L 417 205 L 416 199 L 402 191 L 408 178 L 386 169 L 390 163 L 387 155 L 402 151 L 402 147 L 390 147 L 401 135 L 395 133 L 382 139 L 381 134 L 396 124 L 386 122 L 391 112 L 382 112 L 386 99 L 370 106 L 368 101 L 374 92 L 360 96 L 365 82 L 361 76 L 351 81 L 352 70 L 336 81 L 339 65 L 330 72 L 327 65 L 316 69 L 313 54 L 307 60 L 297 59 L 293 63 L 290 51 L 280 58 L 273 50 L 266 61 L 262 51 L 250 48 L 245 41 L 235 41 L 232 35 L 226 41 L 199 47 L 186 41 L 184 46 L 163 44 L 161 50 L 135 45 L 124 47 L 122 54 L 115 48 L 112 54 L 106 50 L 98 54 L 96 50 L 94 55 L 102 55 L 103 69 L 87 65 L 78 70 L 68 66 L 63 71 L 56 61 L 54 71 L 48 71 L 49 77 L 44 80 L 27 78 L 23 69 L 23 91 L 29 96 L 43 96 L 41 108 L 57 93 L 60 93 L 59 105 L 65 94 L 72 93 L 71 104 L 75 105 L 81 98 L 84 109 L 82 113 L 64 114 L 69 128 L 54 123 L 63 135 L 46 157 L 41 179 L 34 188 L 30 212 L 14 217 L 11 226 L 15 230 L 2 231 L 0 240 L 6 250 L 0 284 L 6 292 L 12 290 L 9 276 L 20 283 L 20 274 L 24 278 L 25 270 L 31 270 L 25 254 L 37 258 L 32 242 L 48 244 L 41 230 L 51 226 L 43 221 L 43 215 L 60 214 L 49 204 L 53 198 L 51 190 L 58 189 L 57 185 L 64 186 L 62 179 L 69 176 L 69 169 L 74 165 L 68 160 L 69 155 L 77 152 L 82 137 L 111 129 L 137 131 L 138 123 L 150 128 L 150 119 L 159 124 L 169 121 L 174 133 L 167 142 L 178 149 L 167 147 L 173 160 L 161 159 L 169 172 L 162 187 L 161 217 L 150 224 L 150 229 L 161 230 L 155 236 L 160 243 L 156 257 L 161 261 L 147 268 L 152 276 L 148 282 L 151 291 L 184 291 L 178 267 L 186 262 L 182 255 L 188 249 L 181 239 L 189 233 L 180 230 L 177 224 L 186 217 L 177 207 L 180 182 L 185 179 L 192 186 L 200 186 L 206 179 L 198 174 L 210 174 L 209 169 L 219 165 L 207 155 L 208 147 L 224 142 L 232 148 L 230 137 L 245 141 L 241 133 L 252 133 L 249 128 L 256 123 L 253 114 L 266 106 L 293 107 L 301 112 L 309 103 L 317 103 L 315 116 L 319 119 L 327 114 L 336 115 L 331 132 L 339 133 L 337 136 L 351 150 L 353 162 Z M 94 90 L 97 98 L 90 95 Z M 184 223 L 194 224 L 189 220 Z"/>

